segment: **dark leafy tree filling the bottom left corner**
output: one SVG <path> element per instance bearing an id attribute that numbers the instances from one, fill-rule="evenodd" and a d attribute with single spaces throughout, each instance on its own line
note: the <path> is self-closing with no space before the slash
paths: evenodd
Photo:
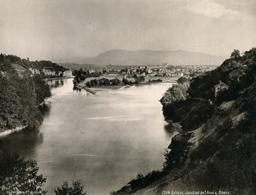
<path id="1" fill-rule="evenodd" d="M 36 161 L 18 155 L 0 157 L 0 194 L 46 194 L 46 178 L 38 175 Z"/>

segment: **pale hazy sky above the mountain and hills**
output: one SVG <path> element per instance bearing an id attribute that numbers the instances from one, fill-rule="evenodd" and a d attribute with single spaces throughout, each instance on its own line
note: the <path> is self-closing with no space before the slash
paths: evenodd
<path id="1" fill-rule="evenodd" d="M 255 46 L 255 0 L 0 0 L 0 53 L 32 60 Z"/>

